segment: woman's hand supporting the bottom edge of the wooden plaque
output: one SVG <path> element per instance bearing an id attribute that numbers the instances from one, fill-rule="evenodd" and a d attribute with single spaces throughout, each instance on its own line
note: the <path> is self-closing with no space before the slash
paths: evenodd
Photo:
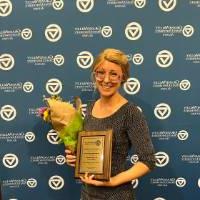
<path id="1" fill-rule="evenodd" d="M 94 175 L 89 175 L 88 173 L 85 173 L 84 176 L 80 176 L 80 179 L 82 182 L 89 185 L 108 186 L 108 187 L 116 186 L 113 178 L 110 178 L 109 181 L 98 181 L 98 180 L 94 180 Z"/>

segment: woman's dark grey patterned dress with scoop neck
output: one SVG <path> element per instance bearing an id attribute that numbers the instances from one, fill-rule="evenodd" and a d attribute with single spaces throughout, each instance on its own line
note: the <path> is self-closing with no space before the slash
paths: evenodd
<path id="1" fill-rule="evenodd" d="M 127 102 L 114 114 L 105 118 L 92 116 L 94 103 L 89 106 L 84 130 L 113 130 L 111 176 L 127 170 L 128 151 L 132 147 L 139 161 L 150 169 L 155 167 L 154 148 L 149 136 L 147 123 L 138 108 Z M 83 184 L 81 200 L 134 200 L 135 194 L 131 182 L 117 187 L 97 187 Z"/>

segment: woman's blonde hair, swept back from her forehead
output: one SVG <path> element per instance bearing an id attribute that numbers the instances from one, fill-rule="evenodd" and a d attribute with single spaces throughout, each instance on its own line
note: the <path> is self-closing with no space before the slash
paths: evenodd
<path id="1" fill-rule="evenodd" d="M 94 72 L 96 68 L 99 67 L 99 65 L 101 65 L 101 63 L 105 60 L 115 63 L 121 67 L 123 73 L 122 83 L 126 82 L 130 74 L 130 64 L 125 53 L 118 49 L 111 48 L 103 50 L 99 55 L 97 55 L 96 59 L 94 60 L 92 65 L 92 72 Z"/>

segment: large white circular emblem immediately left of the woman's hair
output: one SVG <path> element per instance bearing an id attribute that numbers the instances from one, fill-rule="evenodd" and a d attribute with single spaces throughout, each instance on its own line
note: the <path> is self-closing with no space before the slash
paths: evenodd
<path id="1" fill-rule="evenodd" d="M 76 58 L 77 64 L 83 69 L 91 67 L 93 61 L 93 55 L 89 51 L 80 52 Z"/>

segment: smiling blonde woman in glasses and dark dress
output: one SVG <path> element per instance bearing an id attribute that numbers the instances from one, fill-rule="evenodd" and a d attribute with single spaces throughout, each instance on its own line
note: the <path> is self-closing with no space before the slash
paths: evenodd
<path id="1" fill-rule="evenodd" d="M 129 77 L 127 56 L 117 49 L 105 49 L 94 61 L 92 73 L 100 98 L 92 103 L 84 119 L 84 130 L 113 130 L 112 170 L 109 181 L 94 180 L 93 175 L 81 177 L 81 200 L 133 200 L 131 181 L 155 166 L 154 149 L 144 116 L 137 106 L 119 93 Z M 138 162 L 126 168 L 132 147 Z M 66 162 L 75 166 L 76 156 L 66 150 Z"/>

